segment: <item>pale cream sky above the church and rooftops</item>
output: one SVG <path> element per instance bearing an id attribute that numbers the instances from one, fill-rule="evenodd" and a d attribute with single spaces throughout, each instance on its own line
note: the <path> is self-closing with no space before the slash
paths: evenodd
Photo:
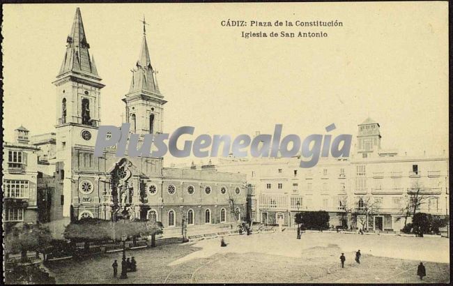
<path id="1" fill-rule="evenodd" d="M 332 135 L 355 135 L 370 116 L 386 149 L 448 150 L 447 2 L 4 5 L 6 140 L 21 124 L 31 135 L 54 131 L 51 82 L 77 6 L 106 85 L 101 125 L 121 124 L 145 15 L 151 63 L 168 100 L 165 133 L 194 126 L 196 135 L 272 134 L 282 123 L 284 134 L 303 140 L 326 134 L 330 123 Z M 343 27 L 222 27 L 229 19 L 339 20 Z M 245 39 L 241 31 L 328 37 Z"/>

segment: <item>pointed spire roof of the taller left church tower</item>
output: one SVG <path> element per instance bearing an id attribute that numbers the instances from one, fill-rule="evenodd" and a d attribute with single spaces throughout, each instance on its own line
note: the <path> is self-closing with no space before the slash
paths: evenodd
<path id="1" fill-rule="evenodd" d="M 84 23 L 80 9 L 75 10 L 70 35 L 66 39 L 66 53 L 61 64 L 59 75 L 68 72 L 82 73 L 99 78 L 94 60 L 90 58 L 89 43 L 86 42 Z"/>

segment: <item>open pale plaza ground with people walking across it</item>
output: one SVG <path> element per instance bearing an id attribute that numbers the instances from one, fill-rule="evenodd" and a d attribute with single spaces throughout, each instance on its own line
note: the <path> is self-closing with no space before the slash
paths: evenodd
<path id="1" fill-rule="evenodd" d="M 128 251 L 137 272 L 127 280 L 112 278 L 121 253 L 46 264 L 56 283 L 420 283 L 417 265 L 424 262 L 423 283 L 449 283 L 449 241 L 445 238 L 362 236 L 295 232 L 226 236 Z M 362 253 L 361 264 L 354 261 Z M 339 255 L 345 253 L 341 269 Z M 121 266 L 118 267 L 118 275 Z"/>

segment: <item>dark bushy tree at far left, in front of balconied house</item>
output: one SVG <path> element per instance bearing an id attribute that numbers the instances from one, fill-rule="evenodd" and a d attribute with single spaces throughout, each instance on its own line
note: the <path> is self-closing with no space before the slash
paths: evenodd
<path id="1" fill-rule="evenodd" d="M 27 251 L 45 253 L 52 241 L 48 227 L 42 225 L 24 225 L 22 229 L 13 228 L 5 237 L 6 253 L 21 253 L 22 261 L 26 260 Z"/>

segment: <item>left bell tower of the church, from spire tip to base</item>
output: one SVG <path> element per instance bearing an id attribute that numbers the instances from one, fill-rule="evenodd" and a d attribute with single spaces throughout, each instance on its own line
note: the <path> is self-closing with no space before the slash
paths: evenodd
<path id="1" fill-rule="evenodd" d="M 66 38 L 66 52 L 56 80 L 56 172 L 63 182 L 63 217 L 77 197 L 75 147 L 94 149 L 100 124 L 102 84 L 94 59 L 90 57 L 80 9 L 75 11 L 72 28 Z M 91 160 L 91 159 L 90 159 Z M 91 161 L 90 161 L 91 162 Z"/>

